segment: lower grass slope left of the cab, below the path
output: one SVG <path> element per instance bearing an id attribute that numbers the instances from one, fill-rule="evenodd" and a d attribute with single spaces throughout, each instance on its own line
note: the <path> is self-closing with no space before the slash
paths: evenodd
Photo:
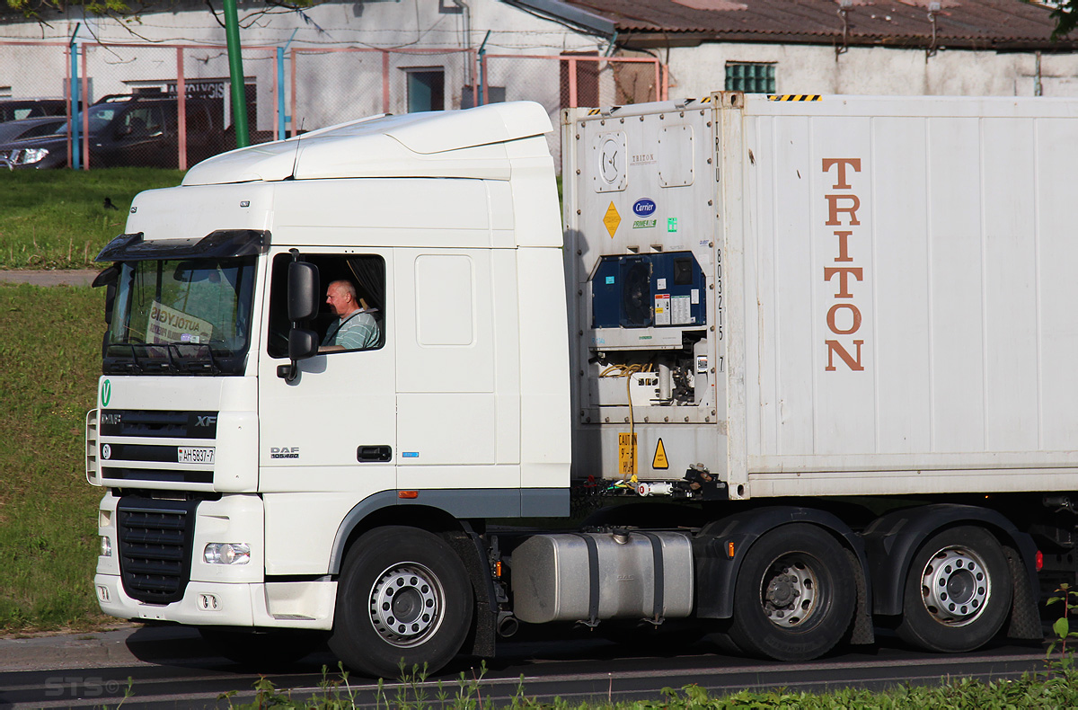
<path id="1" fill-rule="evenodd" d="M 2 189 L 0 189 L 2 193 Z M 103 295 L 0 286 L 0 629 L 92 628 L 100 489 L 84 477 Z"/>

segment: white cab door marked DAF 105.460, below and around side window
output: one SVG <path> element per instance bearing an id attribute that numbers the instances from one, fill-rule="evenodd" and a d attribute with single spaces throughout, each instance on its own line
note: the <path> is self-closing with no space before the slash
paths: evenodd
<path id="1" fill-rule="evenodd" d="M 326 573 L 348 510 L 396 488 L 396 333 L 386 327 L 393 308 L 386 296 L 392 292 L 392 252 L 305 250 L 298 256 L 319 270 L 323 308 L 308 327 L 320 339 L 338 324 L 324 303 L 327 287 L 337 281 L 351 285 L 378 332 L 362 349 L 300 361 L 292 382 L 278 377 L 278 367 L 289 361 L 292 255 L 273 257 L 259 357 L 259 490 L 266 511 L 268 574 Z"/>

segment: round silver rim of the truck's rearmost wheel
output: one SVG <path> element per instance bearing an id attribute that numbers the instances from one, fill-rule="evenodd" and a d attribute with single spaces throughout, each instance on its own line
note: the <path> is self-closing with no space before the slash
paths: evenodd
<path id="1" fill-rule="evenodd" d="M 984 611 L 992 579 L 980 557 L 964 547 L 946 547 L 934 555 L 921 575 L 925 609 L 946 626 L 965 626 Z"/>

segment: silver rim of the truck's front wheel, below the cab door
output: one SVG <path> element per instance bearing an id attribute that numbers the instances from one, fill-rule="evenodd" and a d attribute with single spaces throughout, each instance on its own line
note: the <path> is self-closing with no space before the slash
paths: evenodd
<path id="1" fill-rule="evenodd" d="M 417 562 L 402 562 L 378 575 L 371 589 L 371 623 L 401 648 L 428 639 L 442 623 L 445 592 L 438 577 Z"/>

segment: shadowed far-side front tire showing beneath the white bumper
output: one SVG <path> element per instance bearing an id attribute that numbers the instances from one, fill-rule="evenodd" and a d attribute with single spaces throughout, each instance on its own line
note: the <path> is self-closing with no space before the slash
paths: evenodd
<path id="1" fill-rule="evenodd" d="M 203 626 L 198 628 L 198 632 L 217 653 L 258 671 L 287 668 L 326 642 L 324 632 L 291 629 Z"/>

